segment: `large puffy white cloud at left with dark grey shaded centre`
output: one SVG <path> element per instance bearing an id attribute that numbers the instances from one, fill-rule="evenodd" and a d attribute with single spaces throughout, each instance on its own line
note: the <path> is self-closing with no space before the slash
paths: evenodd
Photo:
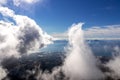
<path id="1" fill-rule="evenodd" d="M 11 17 L 14 22 L 0 21 L 0 56 L 16 56 L 39 49 L 52 41 L 34 20 L 16 15 L 7 7 L 0 7 L 3 17 Z M 4 54 L 3 54 L 4 53 Z"/>

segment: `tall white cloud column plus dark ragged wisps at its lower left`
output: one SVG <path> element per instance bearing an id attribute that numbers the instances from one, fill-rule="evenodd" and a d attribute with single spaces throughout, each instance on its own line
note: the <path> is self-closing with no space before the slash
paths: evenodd
<path id="1" fill-rule="evenodd" d="M 89 47 L 85 44 L 83 23 L 74 24 L 68 30 L 69 46 L 67 46 L 67 55 L 63 65 L 55 67 L 52 72 L 42 72 L 41 69 L 34 69 L 37 80 L 101 80 L 103 73 L 96 64 Z M 86 50 L 87 49 L 87 50 Z"/>

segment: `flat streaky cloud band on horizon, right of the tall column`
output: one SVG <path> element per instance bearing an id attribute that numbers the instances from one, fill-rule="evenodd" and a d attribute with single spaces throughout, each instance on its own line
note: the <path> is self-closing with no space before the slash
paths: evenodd
<path id="1" fill-rule="evenodd" d="M 84 30 L 86 38 L 119 39 L 120 25 L 97 26 Z"/>

